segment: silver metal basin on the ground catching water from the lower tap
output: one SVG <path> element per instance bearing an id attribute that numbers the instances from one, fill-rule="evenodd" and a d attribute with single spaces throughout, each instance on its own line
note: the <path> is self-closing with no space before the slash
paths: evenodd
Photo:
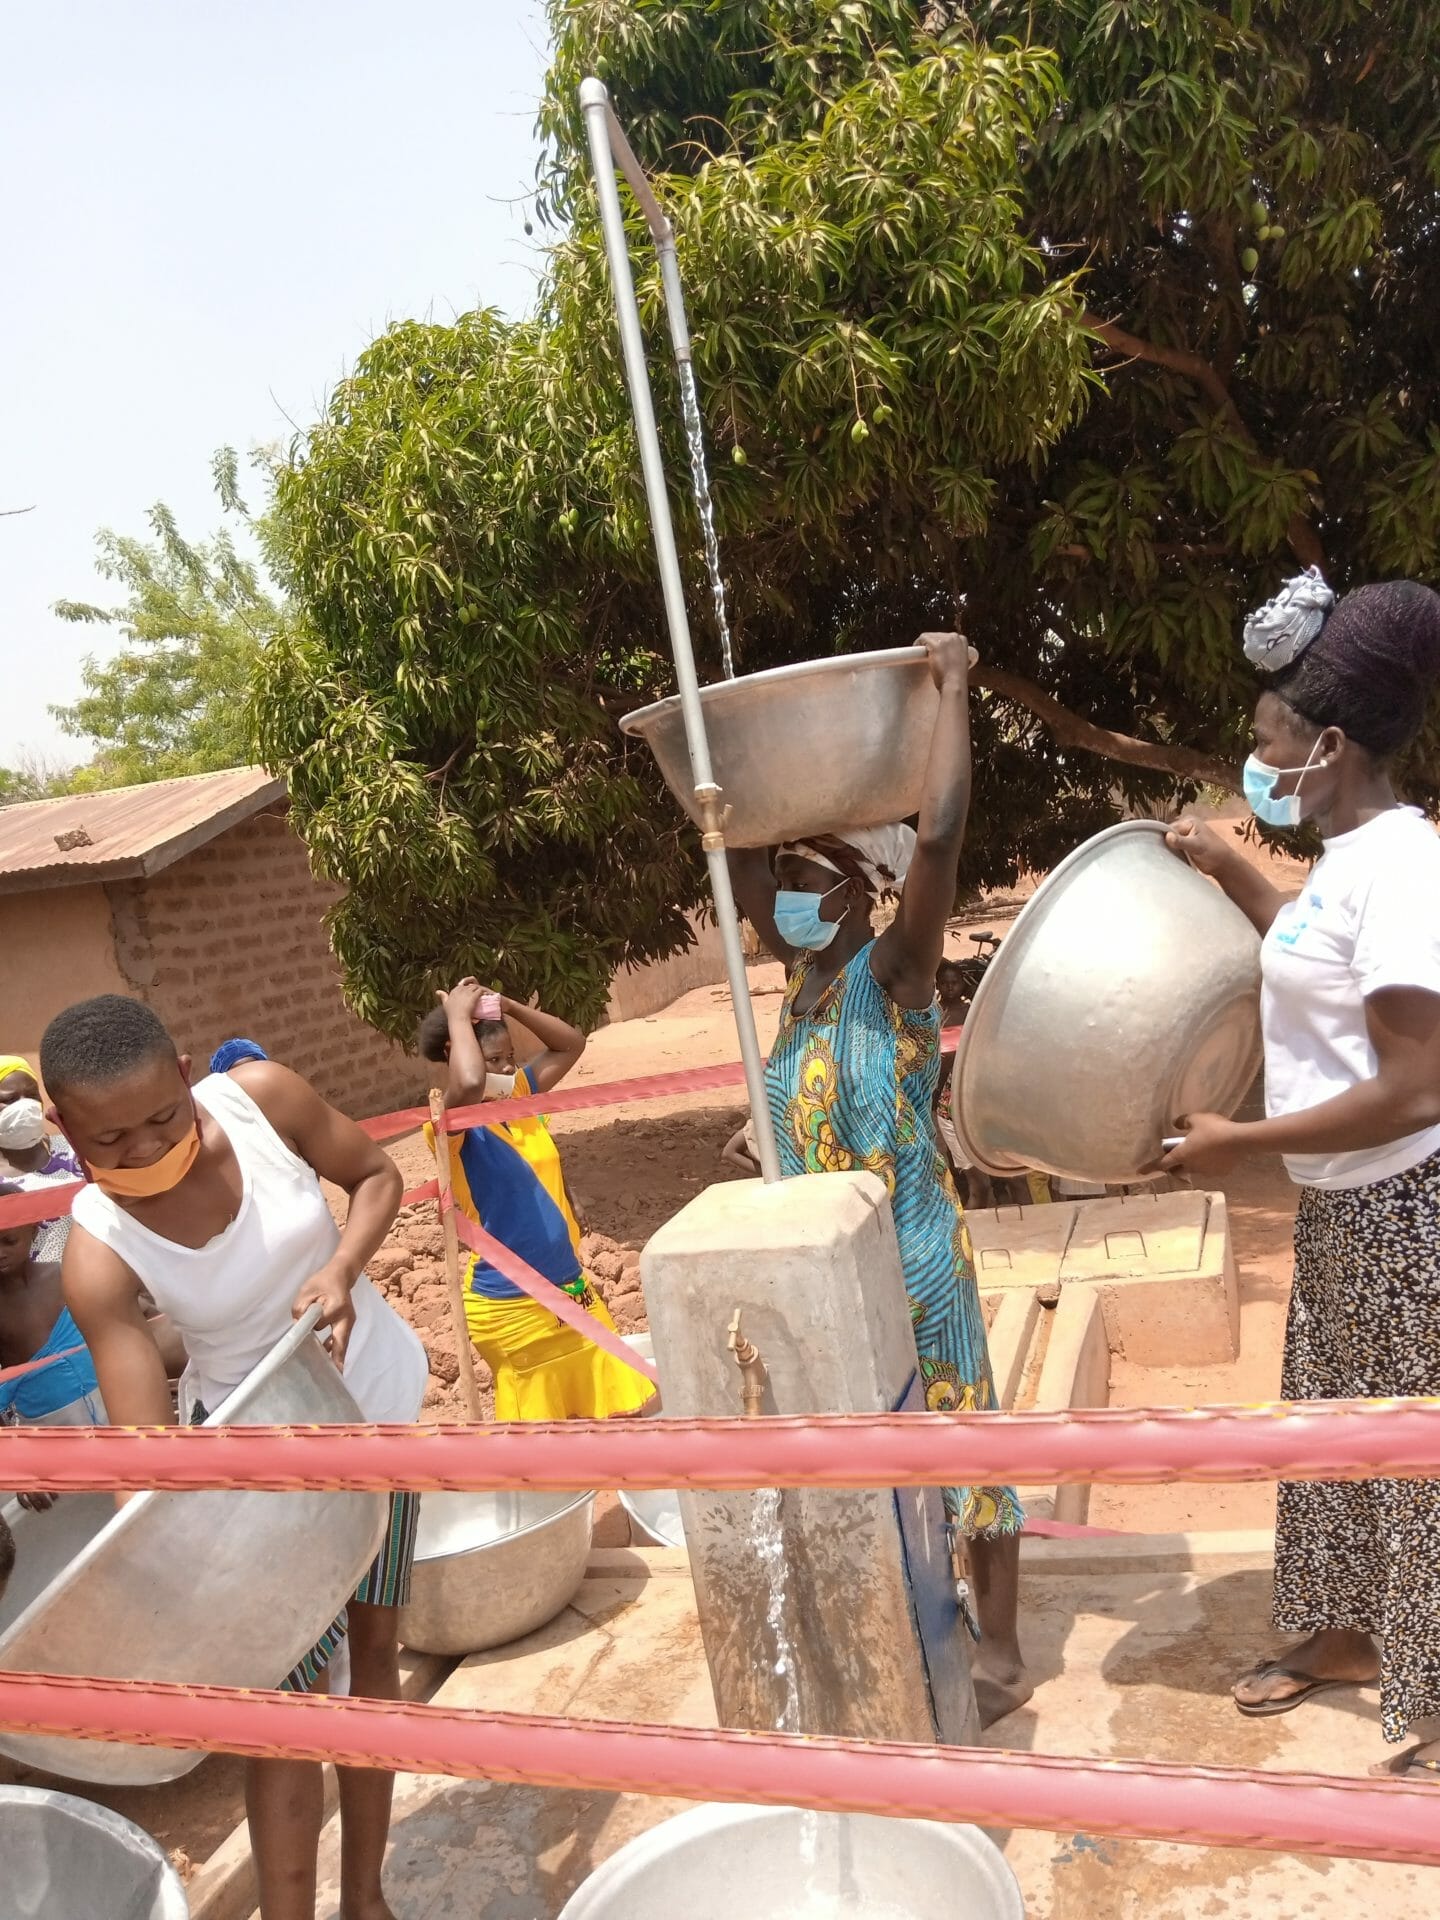
<path id="1" fill-rule="evenodd" d="M 737 1889 L 743 1895 L 737 1899 Z M 799 1807 L 693 1807 L 620 1847 L 559 1920 L 1023 1920 L 977 1826 Z"/>

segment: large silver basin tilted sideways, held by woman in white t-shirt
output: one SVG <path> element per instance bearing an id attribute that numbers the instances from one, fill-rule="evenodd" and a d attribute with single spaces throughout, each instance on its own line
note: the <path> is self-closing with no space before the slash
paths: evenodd
<path id="1" fill-rule="evenodd" d="M 1146 1179 L 1187 1114 L 1233 1114 L 1260 1068 L 1260 937 L 1127 820 L 1041 883 L 960 1037 L 954 1131 L 985 1173 Z"/>

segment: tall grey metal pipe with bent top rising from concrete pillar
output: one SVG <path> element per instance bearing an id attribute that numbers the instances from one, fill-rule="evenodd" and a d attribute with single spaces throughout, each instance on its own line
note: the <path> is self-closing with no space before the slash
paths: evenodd
<path id="1" fill-rule="evenodd" d="M 626 246 L 624 213 L 620 209 L 620 188 L 614 182 L 616 163 L 624 171 L 624 177 L 645 213 L 660 255 L 660 280 L 664 284 L 664 303 L 670 317 L 670 340 L 676 349 L 676 359 L 689 359 L 689 328 L 685 324 L 685 303 L 680 288 L 674 230 L 670 228 L 670 221 L 664 213 L 660 213 L 660 205 L 655 200 L 655 194 L 645 180 L 645 173 L 614 117 L 611 96 L 601 81 L 588 79 L 580 83 L 580 109 L 586 117 L 589 159 L 595 169 L 601 230 L 605 234 L 605 253 L 611 263 L 614 313 L 620 324 L 620 348 L 626 363 L 626 382 L 630 386 L 630 407 L 636 417 L 636 440 L 639 442 L 639 467 L 645 476 L 645 499 L 649 503 L 651 534 L 655 538 L 655 563 L 660 572 L 664 618 L 670 628 L 670 651 L 676 660 L 676 691 L 680 693 L 680 710 L 685 720 L 685 745 L 689 749 L 689 770 L 695 781 L 695 801 L 705 822 L 701 847 L 705 849 L 705 858 L 710 870 L 710 893 L 714 895 L 720 945 L 726 954 L 726 979 L 730 981 L 730 998 L 735 1012 L 739 1056 L 745 1064 L 745 1087 L 751 1096 L 755 1146 L 762 1177 L 766 1181 L 778 1181 L 780 1148 L 776 1146 L 776 1129 L 770 1121 L 770 1102 L 766 1100 L 764 1091 L 764 1056 L 760 1054 L 760 1035 L 755 1027 L 751 983 L 745 973 L 745 950 L 739 943 L 735 895 L 730 885 L 730 868 L 726 864 L 724 795 L 714 781 L 714 770 L 710 766 L 710 741 L 705 732 L 701 687 L 695 678 L 695 653 L 689 641 L 689 614 L 685 611 L 685 586 L 680 574 L 680 551 L 676 547 L 676 528 L 670 516 L 670 493 L 664 484 L 660 436 L 655 426 L 651 376 L 649 367 L 645 365 L 645 338 L 639 330 L 636 276 L 630 269 L 630 248 Z"/>

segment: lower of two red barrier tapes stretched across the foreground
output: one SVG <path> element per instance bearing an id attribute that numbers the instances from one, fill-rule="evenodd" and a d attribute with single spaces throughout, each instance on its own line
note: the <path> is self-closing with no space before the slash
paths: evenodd
<path id="1" fill-rule="evenodd" d="M 336 1761 L 591 1793 L 1440 1864 L 1434 1788 L 1413 1780 L 547 1720 L 323 1693 L 242 1693 L 52 1674 L 0 1676 L 0 1724 L 23 1734 Z"/>

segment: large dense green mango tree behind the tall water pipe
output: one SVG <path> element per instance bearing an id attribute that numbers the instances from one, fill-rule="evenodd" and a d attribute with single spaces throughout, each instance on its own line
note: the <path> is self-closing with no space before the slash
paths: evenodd
<path id="1" fill-rule="evenodd" d="M 739 670 L 964 624 L 970 881 L 1223 780 L 1244 612 L 1440 574 L 1440 6 L 555 0 L 532 321 L 401 324 L 278 486 L 267 758 L 403 1033 L 461 972 L 591 1018 L 699 866 L 576 90 L 680 244 Z M 643 225 L 703 674 L 714 636 Z M 824 741 L 799 741 L 824 753 Z"/>

